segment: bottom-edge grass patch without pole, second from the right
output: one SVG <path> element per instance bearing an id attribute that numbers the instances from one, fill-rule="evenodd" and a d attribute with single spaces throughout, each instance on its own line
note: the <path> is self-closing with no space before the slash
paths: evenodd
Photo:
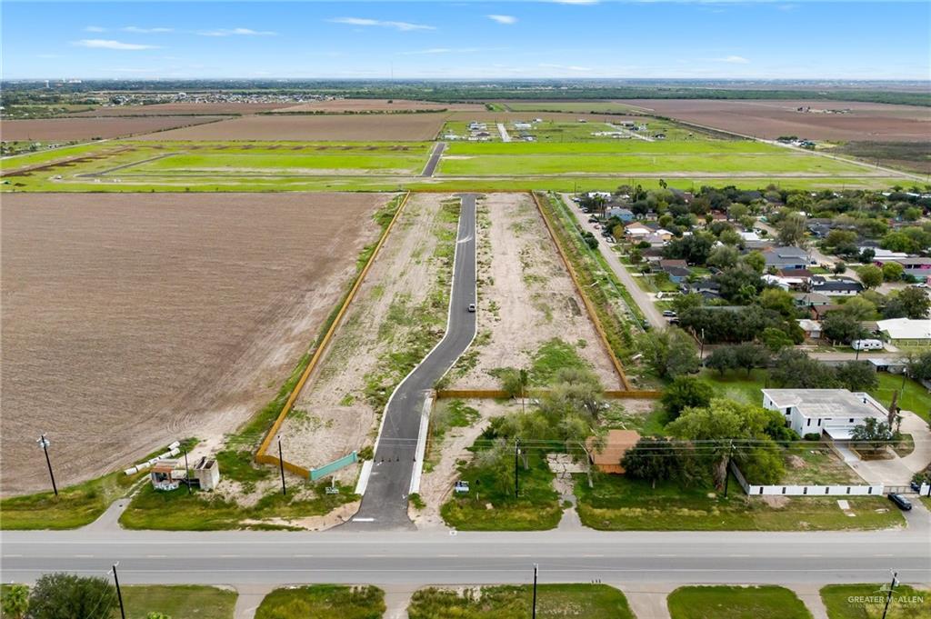
<path id="1" fill-rule="evenodd" d="M 668 597 L 672 619 L 811 619 L 781 586 L 681 586 Z"/>

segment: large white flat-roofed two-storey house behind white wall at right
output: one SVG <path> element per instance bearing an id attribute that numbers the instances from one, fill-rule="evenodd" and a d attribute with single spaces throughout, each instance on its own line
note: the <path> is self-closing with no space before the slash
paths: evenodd
<path id="1" fill-rule="evenodd" d="M 800 436 L 823 432 L 835 440 L 850 440 L 855 426 L 888 414 L 869 394 L 846 389 L 763 389 L 762 406 L 781 412 Z"/>

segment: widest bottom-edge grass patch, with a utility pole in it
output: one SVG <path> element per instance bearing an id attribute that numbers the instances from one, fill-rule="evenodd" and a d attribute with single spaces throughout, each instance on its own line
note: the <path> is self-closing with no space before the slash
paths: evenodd
<path id="1" fill-rule="evenodd" d="M 533 586 L 483 586 L 465 596 L 429 587 L 413 594 L 411 619 L 524 619 L 531 615 Z M 634 619 L 624 594 L 608 585 L 539 585 L 539 619 Z"/>

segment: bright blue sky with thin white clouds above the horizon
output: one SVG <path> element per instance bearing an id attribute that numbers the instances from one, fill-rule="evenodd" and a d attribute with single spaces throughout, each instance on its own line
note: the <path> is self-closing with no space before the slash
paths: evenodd
<path id="1" fill-rule="evenodd" d="M 19 78 L 931 79 L 931 3 L 3 2 Z"/>

